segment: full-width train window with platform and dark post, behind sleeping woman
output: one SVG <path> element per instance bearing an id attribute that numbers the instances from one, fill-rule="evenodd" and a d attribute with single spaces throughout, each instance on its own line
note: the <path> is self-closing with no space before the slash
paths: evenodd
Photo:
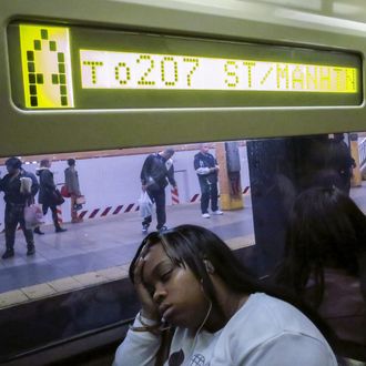
<path id="1" fill-rule="evenodd" d="M 8 338 L 2 350 L 27 353 L 132 319 L 139 304 L 128 270 L 153 231 L 204 226 L 254 276 L 272 281 L 286 254 L 289 213 L 299 193 L 337 189 L 365 212 L 365 136 L 334 133 L 2 159 L 0 318 L 18 332 L 40 326 L 24 318 L 27 312 L 53 319 L 41 323 L 42 337 Z M 349 342 L 356 357 L 357 347 L 364 352 L 357 342 Z"/>

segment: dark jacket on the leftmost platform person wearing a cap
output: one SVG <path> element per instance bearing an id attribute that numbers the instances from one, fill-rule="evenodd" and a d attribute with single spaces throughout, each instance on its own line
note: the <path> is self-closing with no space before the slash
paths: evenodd
<path id="1" fill-rule="evenodd" d="M 31 193 L 20 193 L 20 179 L 30 177 L 32 180 Z M 4 192 L 3 200 L 9 204 L 26 204 L 33 201 L 34 195 L 39 190 L 37 177 L 33 173 L 26 172 L 23 169 L 20 170 L 20 174 L 12 179 L 10 174 L 7 174 L 0 181 L 0 191 Z"/>

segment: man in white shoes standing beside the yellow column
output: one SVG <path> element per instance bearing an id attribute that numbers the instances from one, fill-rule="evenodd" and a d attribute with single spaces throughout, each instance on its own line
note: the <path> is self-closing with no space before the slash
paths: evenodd
<path id="1" fill-rule="evenodd" d="M 202 217 L 210 218 L 209 203 L 214 215 L 222 215 L 217 205 L 217 173 L 218 165 L 216 159 L 209 153 L 210 145 L 202 143 L 200 152 L 194 155 L 194 170 L 197 173 L 201 187 L 201 212 Z"/>

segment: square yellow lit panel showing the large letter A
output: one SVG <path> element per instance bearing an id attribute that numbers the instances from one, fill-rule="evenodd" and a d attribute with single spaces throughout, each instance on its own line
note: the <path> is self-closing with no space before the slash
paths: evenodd
<path id="1" fill-rule="evenodd" d="M 20 24 L 26 108 L 73 108 L 69 29 Z"/>

